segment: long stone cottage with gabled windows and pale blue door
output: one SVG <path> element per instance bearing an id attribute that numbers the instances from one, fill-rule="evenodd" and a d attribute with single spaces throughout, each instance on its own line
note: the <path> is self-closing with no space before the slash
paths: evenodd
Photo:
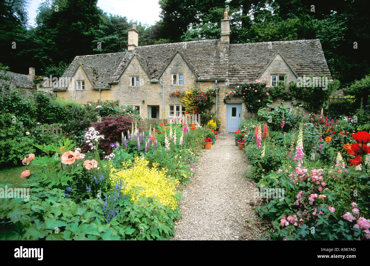
<path id="1" fill-rule="evenodd" d="M 247 111 L 241 98 L 224 100 L 236 85 L 263 78 L 266 85 L 288 85 L 310 74 L 331 78 L 319 40 L 230 44 L 227 12 L 217 40 L 138 46 L 135 27 L 128 31 L 128 51 L 75 57 L 63 74 L 71 82 L 54 88 L 58 97 L 81 104 L 119 100 L 134 105 L 142 117 L 171 118 L 185 110 L 169 94 L 188 87 L 216 88 L 213 111 L 221 120 L 220 131 L 231 132 Z"/>

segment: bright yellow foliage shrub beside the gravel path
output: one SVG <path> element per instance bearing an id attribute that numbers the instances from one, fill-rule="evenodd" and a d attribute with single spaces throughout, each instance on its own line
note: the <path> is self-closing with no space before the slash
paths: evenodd
<path id="1" fill-rule="evenodd" d="M 146 198 L 157 197 L 159 202 L 164 206 L 170 206 L 172 210 L 178 205 L 176 195 L 176 186 L 179 184 L 178 179 L 168 179 L 166 177 L 167 170 L 162 168 L 157 169 L 158 164 L 153 164 L 153 168 L 149 168 L 147 161 L 144 158 L 137 157 L 134 166 L 131 168 L 124 164 L 124 168 L 117 170 L 114 167 L 110 169 L 110 181 L 115 186 L 117 182 L 124 183 L 122 192 L 131 192 L 135 187 L 143 189 L 137 190 L 137 193 L 131 193 L 132 200 L 136 201 L 141 196 Z"/>

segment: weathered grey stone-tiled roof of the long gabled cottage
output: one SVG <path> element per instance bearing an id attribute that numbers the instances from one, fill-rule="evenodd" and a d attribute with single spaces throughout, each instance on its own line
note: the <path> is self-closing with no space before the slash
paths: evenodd
<path id="1" fill-rule="evenodd" d="M 325 74 L 327 66 L 319 40 L 222 44 L 220 40 L 139 46 L 134 51 L 77 56 L 63 76 L 73 77 L 81 65 L 93 88 L 110 88 L 136 56 L 150 80 L 159 80 L 179 53 L 199 80 L 229 80 L 229 84 L 255 80 L 279 53 L 297 75 Z"/>

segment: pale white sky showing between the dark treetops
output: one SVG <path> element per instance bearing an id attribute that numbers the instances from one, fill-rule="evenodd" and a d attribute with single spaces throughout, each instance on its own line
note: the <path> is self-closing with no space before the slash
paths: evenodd
<path id="1" fill-rule="evenodd" d="M 44 0 L 28 0 L 28 23 L 35 26 L 37 8 Z M 159 20 L 158 0 L 98 0 L 98 5 L 107 14 L 127 17 L 127 20 L 141 21 L 152 25 Z M 139 7 L 139 9 L 138 9 Z M 140 10 L 140 11 L 138 11 Z"/>

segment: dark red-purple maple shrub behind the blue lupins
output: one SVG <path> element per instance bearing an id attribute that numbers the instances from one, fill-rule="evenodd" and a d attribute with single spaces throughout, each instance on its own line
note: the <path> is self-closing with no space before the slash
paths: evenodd
<path id="1" fill-rule="evenodd" d="M 99 149 L 105 152 L 106 155 L 111 154 L 112 147 L 111 143 L 120 143 L 122 132 L 127 137 L 127 131 L 131 132 L 132 122 L 135 122 L 133 119 L 125 117 L 123 115 L 118 115 L 117 117 L 103 117 L 101 122 L 93 122 L 90 124 L 90 127 L 95 128 L 100 135 L 104 135 L 104 139 L 99 141 Z M 142 131 L 142 128 L 139 127 L 139 131 Z M 90 149 L 88 144 L 85 144 L 81 148 L 81 152 L 87 152 Z"/>

